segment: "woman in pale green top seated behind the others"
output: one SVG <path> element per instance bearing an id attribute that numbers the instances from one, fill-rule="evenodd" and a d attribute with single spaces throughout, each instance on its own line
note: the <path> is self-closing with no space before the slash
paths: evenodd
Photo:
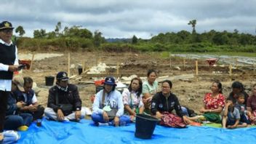
<path id="1" fill-rule="evenodd" d="M 145 113 L 151 113 L 151 100 L 153 95 L 156 94 L 158 88 L 158 82 L 156 81 L 156 71 L 148 70 L 147 81 L 143 82 L 143 103 L 145 107 Z"/>

